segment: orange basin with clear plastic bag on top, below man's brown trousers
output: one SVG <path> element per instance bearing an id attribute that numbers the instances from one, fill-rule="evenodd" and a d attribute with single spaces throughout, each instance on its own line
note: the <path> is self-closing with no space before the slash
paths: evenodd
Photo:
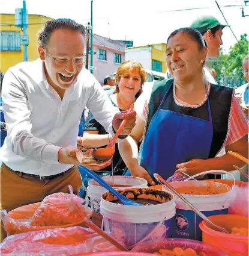
<path id="1" fill-rule="evenodd" d="M 24 205 L 8 213 L 1 210 L 1 219 L 7 234 L 20 234 L 48 228 L 83 226 L 84 217 L 89 219 L 93 211 L 91 208 L 82 205 L 83 199 L 73 195 L 72 189 L 70 189 L 70 193 L 55 193 L 44 198 L 41 203 Z M 74 214 L 74 210 L 76 210 L 76 214 Z"/>

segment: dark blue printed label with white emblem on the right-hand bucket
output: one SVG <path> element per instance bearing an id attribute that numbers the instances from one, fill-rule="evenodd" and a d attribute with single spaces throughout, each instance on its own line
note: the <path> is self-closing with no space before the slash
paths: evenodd
<path id="1" fill-rule="evenodd" d="M 206 216 L 227 214 L 228 208 L 215 211 L 202 211 Z M 172 236 L 176 238 L 194 239 L 202 241 L 202 231 L 199 228 L 199 223 L 202 218 L 194 211 L 176 209 L 174 217 L 175 225 L 172 227 Z"/>

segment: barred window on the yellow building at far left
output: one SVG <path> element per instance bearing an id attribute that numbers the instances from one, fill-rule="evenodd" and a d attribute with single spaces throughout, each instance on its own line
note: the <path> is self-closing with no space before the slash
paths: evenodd
<path id="1" fill-rule="evenodd" d="M 20 44 L 20 32 L 1 31 L 1 51 L 20 51 Z"/>

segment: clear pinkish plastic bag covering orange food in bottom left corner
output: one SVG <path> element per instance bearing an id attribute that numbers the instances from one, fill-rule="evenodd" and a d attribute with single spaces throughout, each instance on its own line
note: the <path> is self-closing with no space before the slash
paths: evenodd
<path id="1" fill-rule="evenodd" d="M 119 251 L 89 228 L 45 229 L 9 236 L 1 243 L 1 256 L 67 256 L 86 252 Z"/>

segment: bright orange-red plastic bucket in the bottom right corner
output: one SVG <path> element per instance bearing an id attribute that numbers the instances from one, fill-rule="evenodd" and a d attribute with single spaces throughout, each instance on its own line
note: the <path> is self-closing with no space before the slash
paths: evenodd
<path id="1" fill-rule="evenodd" d="M 235 227 L 248 228 L 248 217 L 245 216 L 226 214 L 210 216 L 209 219 L 219 226 L 224 226 L 228 231 Z M 215 231 L 205 220 L 200 223 L 200 229 L 203 242 L 217 246 L 230 256 L 248 256 L 248 236 Z"/>

